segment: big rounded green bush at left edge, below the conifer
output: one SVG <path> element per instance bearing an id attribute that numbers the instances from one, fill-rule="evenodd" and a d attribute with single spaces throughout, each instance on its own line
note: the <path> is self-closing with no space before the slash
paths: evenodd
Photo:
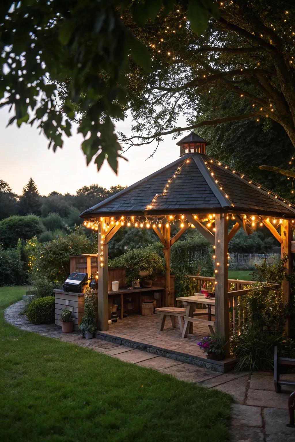
<path id="1" fill-rule="evenodd" d="M 12 216 L 0 221 L 0 244 L 15 247 L 18 239 L 28 240 L 43 232 L 44 227 L 35 215 Z"/>

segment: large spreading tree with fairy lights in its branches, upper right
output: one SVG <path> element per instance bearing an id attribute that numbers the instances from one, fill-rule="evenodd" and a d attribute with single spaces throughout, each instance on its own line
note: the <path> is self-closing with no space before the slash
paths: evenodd
<path id="1" fill-rule="evenodd" d="M 122 134 L 127 146 L 202 126 L 267 118 L 279 123 L 295 145 L 294 7 L 288 11 L 285 1 L 264 0 L 220 5 L 220 17 L 201 37 L 191 31 L 182 10 L 171 12 L 164 23 L 159 18 L 148 29 L 134 31 L 153 51 L 153 71 L 134 69 L 128 84 L 134 135 Z M 251 111 L 239 112 L 235 100 L 214 118 L 199 111 L 200 97 L 229 89 Z M 183 114 L 188 124 L 179 127 Z"/>

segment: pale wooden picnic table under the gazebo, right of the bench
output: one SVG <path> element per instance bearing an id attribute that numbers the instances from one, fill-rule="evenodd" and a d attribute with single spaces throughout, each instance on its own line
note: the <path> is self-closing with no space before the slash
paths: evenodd
<path id="1" fill-rule="evenodd" d="M 215 326 L 215 321 L 211 320 L 211 306 L 215 305 L 215 298 L 205 297 L 202 293 L 196 293 L 194 296 L 176 298 L 176 301 L 181 301 L 183 306 L 186 308 L 186 313 L 184 316 L 184 328 L 182 331 L 183 338 L 186 338 L 188 333 L 193 332 L 194 322 L 207 325 L 210 332 L 214 333 L 213 327 Z M 194 311 L 197 304 L 206 305 L 208 309 L 208 320 L 194 318 Z"/>

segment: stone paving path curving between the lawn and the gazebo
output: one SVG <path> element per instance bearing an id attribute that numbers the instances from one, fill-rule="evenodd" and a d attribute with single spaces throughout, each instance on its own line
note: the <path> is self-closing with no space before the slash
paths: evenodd
<path id="1" fill-rule="evenodd" d="M 70 342 L 98 353 L 109 354 L 121 361 L 169 373 L 184 381 L 196 382 L 207 388 L 230 393 L 234 397 L 231 423 L 233 442 L 294 442 L 295 428 L 286 427 L 289 421 L 287 399 L 291 390 L 274 390 L 272 373 L 217 373 L 191 364 L 173 361 L 146 351 L 134 350 L 101 339 L 82 339 L 79 332 L 61 332 L 55 324 L 34 325 L 20 316 L 24 301 L 16 302 L 4 312 L 5 320 L 39 335 Z M 282 375 L 295 380 L 295 373 Z"/>

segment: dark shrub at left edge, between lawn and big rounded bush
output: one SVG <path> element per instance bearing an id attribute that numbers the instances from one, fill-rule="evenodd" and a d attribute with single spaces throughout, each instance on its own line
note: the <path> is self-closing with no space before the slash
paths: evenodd
<path id="1" fill-rule="evenodd" d="M 26 264 L 21 259 L 22 244 L 4 249 L 0 246 L 0 286 L 22 286 L 27 282 Z"/>

